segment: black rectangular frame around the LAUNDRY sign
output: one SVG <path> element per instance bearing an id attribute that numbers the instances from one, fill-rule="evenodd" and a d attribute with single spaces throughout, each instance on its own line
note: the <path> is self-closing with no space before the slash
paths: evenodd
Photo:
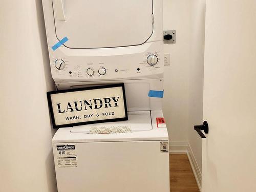
<path id="1" fill-rule="evenodd" d="M 94 121 L 85 121 L 85 122 L 76 122 L 76 123 L 56 125 L 55 117 L 54 117 L 54 112 L 53 112 L 53 105 L 52 105 L 51 95 L 59 94 L 59 93 L 69 93 L 69 92 L 95 90 L 95 89 L 105 89 L 105 88 L 115 88 L 115 87 L 122 87 L 125 117 L 123 117 L 123 118 L 113 118 L 113 119 L 101 119 L 101 120 L 94 120 Z M 93 87 L 77 88 L 77 89 L 69 89 L 69 90 L 50 91 L 50 92 L 47 92 L 47 100 L 48 100 L 48 105 L 49 105 L 49 109 L 50 109 L 50 115 L 51 115 L 52 124 L 53 124 L 53 128 L 54 129 L 63 128 L 63 127 L 72 127 L 72 126 L 78 126 L 78 125 L 94 124 L 94 123 L 116 122 L 116 121 L 128 120 L 124 83 L 108 84 L 108 85 L 104 85 L 104 86 L 93 86 Z"/>

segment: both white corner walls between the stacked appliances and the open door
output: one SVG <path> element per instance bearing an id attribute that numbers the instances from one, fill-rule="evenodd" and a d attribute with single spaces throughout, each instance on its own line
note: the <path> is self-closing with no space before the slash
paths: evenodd
<path id="1" fill-rule="evenodd" d="M 202 123 L 205 0 L 163 0 L 164 30 L 176 30 L 176 44 L 164 45 L 163 110 L 170 142 L 188 142 L 199 169 L 202 139 L 194 131 Z"/>

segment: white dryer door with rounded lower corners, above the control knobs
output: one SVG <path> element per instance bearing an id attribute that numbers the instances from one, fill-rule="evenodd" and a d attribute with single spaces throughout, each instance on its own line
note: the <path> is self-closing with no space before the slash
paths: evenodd
<path id="1" fill-rule="evenodd" d="M 56 36 L 69 48 L 140 45 L 153 33 L 153 0 L 52 0 Z"/>

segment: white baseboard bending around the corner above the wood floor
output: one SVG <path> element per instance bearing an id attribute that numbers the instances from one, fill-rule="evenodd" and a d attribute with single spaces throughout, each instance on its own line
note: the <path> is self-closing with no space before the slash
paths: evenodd
<path id="1" fill-rule="evenodd" d="M 190 166 L 193 170 L 199 190 L 201 191 L 202 174 L 197 164 L 194 153 L 188 142 L 169 142 L 170 154 L 187 154 Z"/>

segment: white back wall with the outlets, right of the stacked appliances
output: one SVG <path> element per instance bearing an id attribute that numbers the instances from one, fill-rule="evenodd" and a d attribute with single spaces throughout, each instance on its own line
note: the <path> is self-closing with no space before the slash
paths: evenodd
<path id="1" fill-rule="evenodd" d="M 164 71 L 163 112 L 170 141 L 188 141 L 188 79 L 190 60 L 190 1 L 163 0 L 163 28 L 176 30 L 176 44 L 164 45 L 170 66 Z"/>

